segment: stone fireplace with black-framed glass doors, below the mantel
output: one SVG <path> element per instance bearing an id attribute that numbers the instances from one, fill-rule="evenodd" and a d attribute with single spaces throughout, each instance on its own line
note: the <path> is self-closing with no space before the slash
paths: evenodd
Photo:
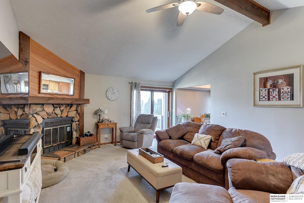
<path id="1" fill-rule="evenodd" d="M 43 153 L 76 144 L 79 136 L 79 104 L 30 104 L 29 132 L 43 134 Z"/>

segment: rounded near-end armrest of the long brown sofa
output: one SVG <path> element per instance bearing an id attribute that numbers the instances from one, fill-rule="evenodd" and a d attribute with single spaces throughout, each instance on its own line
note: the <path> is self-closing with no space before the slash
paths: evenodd
<path id="1" fill-rule="evenodd" d="M 266 158 L 268 155 L 263 150 L 258 150 L 252 147 L 237 147 L 227 150 L 221 155 L 221 163 L 225 164 L 229 159 L 249 159 L 255 160 L 258 158 Z"/>

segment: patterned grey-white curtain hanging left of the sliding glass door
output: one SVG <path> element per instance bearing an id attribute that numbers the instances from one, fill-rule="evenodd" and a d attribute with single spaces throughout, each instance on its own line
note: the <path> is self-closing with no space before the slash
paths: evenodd
<path id="1" fill-rule="evenodd" d="M 140 82 L 131 84 L 131 127 L 134 127 L 138 115 L 141 113 Z"/>

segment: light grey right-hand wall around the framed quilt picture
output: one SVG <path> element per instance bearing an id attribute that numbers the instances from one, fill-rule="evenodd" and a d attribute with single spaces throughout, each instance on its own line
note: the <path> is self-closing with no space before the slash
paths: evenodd
<path id="1" fill-rule="evenodd" d="M 252 73 L 304 64 L 303 13 L 304 7 L 271 12 L 271 25 L 253 22 L 174 81 L 174 88 L 211 84 L 211 122 L 263 134 L 277 160 L 304 152 L 304 109 L 253 107 Z"/>

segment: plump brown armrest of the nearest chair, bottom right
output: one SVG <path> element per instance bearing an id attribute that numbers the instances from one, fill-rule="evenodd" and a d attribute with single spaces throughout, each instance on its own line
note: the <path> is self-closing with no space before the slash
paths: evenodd
<path id="1" fill-rule="evenodd" d="M 293 182 L 291 170 L 283 162 L 227 161 L 230 187 L 286 194 Z"/>

